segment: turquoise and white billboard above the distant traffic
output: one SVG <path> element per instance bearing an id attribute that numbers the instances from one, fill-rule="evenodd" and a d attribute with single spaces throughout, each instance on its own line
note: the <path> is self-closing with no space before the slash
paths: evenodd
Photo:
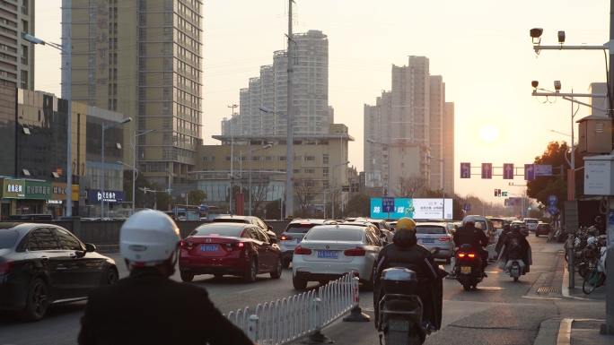
<path id="1" fill-rule="evenodd" d="M 443 199 L 408 199 L 395 198 L 394 212 L 390 219 L 409 217 L 418 220 L 443 218 Z M 388 213 L 383 211 L 382 198 L 371 199 L 371 218 L 388 219 Z M 452 220 L 452 199 L 445 199 L 445 219 Z"/>

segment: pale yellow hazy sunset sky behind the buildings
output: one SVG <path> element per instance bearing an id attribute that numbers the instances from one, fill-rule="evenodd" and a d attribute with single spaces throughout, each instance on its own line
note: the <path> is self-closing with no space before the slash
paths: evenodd
<path id="1" fill-rule="evenodd" d="M 355 142 L 349 160 L 364 167 L 363 107 L 391 88 L 391 65 L 408 65 L 408 56 L 427 56 L 432 75 L 442 75 L 446 101 L 455 103 L 455 190 L 492 203 L 499 188 L 521 194 L 523 177 L 513 181 L 472 176 L 460 179 L 460 162 L 472 167 L 492 163 L 515 167 L 532 163 L 552 141 L 570 141 L 571 103 L 531 96 L 531 81 L 553 90 L 587 92 L 605 82 L 606 63 L 599 50 L 532 49 L 529 31 L 543 28 L 541 43 L 601 45 L 609 40 L 610 8 L 605 0 L 295 0 L 294 32 L 322 30 L 329 39 L 329 105 L 335 122 L 346 124 Z M 287 0 L 205 1 L 203 20 L 203 138 L 218 144 L 228 105 L 273 52 L 285 49 Z M 36 4 L 39 39 L 60 42 L 61 0 Z M 36 47 L 36 90 L 60 95 L 60 56 Z M 584 99 L 587 100 L 587 99 Z M 581 107 L 575 120 L 590 115 Z M 563 134 L 557 134 L 550 130 Z M 576 127 L 577 133 L 577 127 Z M 499 135 L 496 135 L 496 133 Z M 482 135 L 480 135 L 482 133 Z M 485 141 L 494 140 L 492 142 Z M 473 168 L 472 174 L 479 169 Z M 501 168 L 495 169 L 501 174 Z M 522 174 L 522 170 L 519 170 Z M 538 177 L 539 178 L 539 177 Z M 446 191 L 449 193 L 450 191 Z"/>

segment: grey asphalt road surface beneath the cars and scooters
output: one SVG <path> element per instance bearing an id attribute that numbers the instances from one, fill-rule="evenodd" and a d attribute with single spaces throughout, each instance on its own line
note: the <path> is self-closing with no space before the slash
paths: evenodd
<path id="1" fill-rule="evenodd" d="M 577 312 L 578 302 L 560 296 L 560 270 L 565 262 L 562 245 L 548 243 L 545 238 L 535 238 L 532 234 L 529 239 L 534 265 L 518 282 L 497 270 L 496 264 L 488 267 L 489 277 L 477 290 L 464 291 L 458 281 L 444 280 L 443 329 L 428 337 L 427 344 L 459 340 L 471 340 L 467 342 L 472 344 L 530 344 L 539 331 L 539 323 Z M 120 256 L 109 256 L 118 263 L 120 278 L 126 277 L 127 270 Z M 444 267 L 449 269 L 447 265 Z M 180 280 L 179 273 L 172 279 Z M 290 269 L 285 269 L 279 280 L 272 280 L 266 274 L 259 276 L 254 284 L 243 284 L 240 278 L 215 279 L 212 276 L 196 277 L 192 284 L 207 289 L 224 314 L 245 306 L 253 310 L 259 303 L 293 296 L 297 292 L 292 287 Z M 317 286 L 311 283 L 308 288 Z M 539 293 L 539 288 L 555 288 L 557 292 Z M 372 293 L 362 292 L 360 296 L 364 311 L 373 315 Z M 19 323 L 8 315 L 1 315 L 0 345 L 75 344 L 84 306 L 81 302 L 49 308 L 48 315 L 39 323 Z M 585 311 L 585 314 L 592 318 L 604 316 L 602 310 Z M 324 333 L 338 344 L 379 343 L 373 323 L 333 323 Z"/>

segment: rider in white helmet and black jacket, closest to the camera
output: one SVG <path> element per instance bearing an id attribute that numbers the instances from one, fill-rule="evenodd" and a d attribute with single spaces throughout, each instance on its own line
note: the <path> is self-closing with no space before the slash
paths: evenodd
<path id="1" fill-rule="evenodd" d="M 79 344 L 253 345 L 206 289 L 169 279 L 180 239 L 175 222 L 161 211 L 139 211 L 124 222 L 119 251 L 130 275 L 90 292 Z"/>

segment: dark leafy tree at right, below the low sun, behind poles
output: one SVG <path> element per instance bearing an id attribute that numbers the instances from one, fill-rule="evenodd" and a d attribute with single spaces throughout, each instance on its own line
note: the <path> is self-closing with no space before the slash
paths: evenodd
<path id="1" fill-rule="evenodd" d="M 541 156 L 535 157 L 535 164 L 552 165 L 553 172 L 557 171 L 558 167 L 563 166 L 568 168 L 569 165 L 565 159 L 566 152 L 569 151 L 567 142 L 550 142 L 546 151 Z M 581 162 L 582 157 L 578 151 L 575 151 L 575 161 Z M 534 181 L 527 182 L 527 194 L 531 198 L 535 198 L 539 203 L 539 209 L 545 210 L 548 207 L 548 195 L 554 194 L 558 197 L 558 204 L 561 205 L 567 200 L 567 177 L 551 176 L 551 177 L 536 177 Z M 575 194 L 583 194 L 584 179 L 583 174 L 575 174 Z M 560 209 L 561 207 L 559 207 Z"/>

